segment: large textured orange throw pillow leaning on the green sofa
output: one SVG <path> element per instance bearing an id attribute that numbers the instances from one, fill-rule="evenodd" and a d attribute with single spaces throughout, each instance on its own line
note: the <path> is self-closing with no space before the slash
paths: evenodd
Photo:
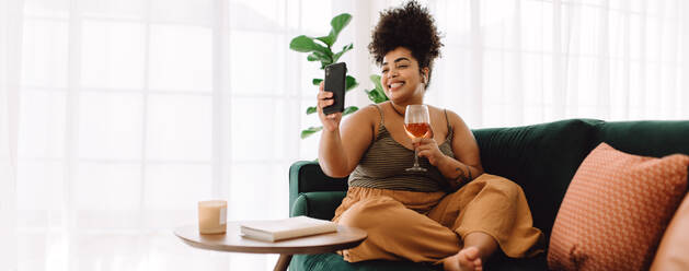
<path id="1" fill-rule="evenodd" d="M 550 237 L 551 270 L 646 270 L 687 189 L 689 156 L 600 143 L 576 170 Z"/>

